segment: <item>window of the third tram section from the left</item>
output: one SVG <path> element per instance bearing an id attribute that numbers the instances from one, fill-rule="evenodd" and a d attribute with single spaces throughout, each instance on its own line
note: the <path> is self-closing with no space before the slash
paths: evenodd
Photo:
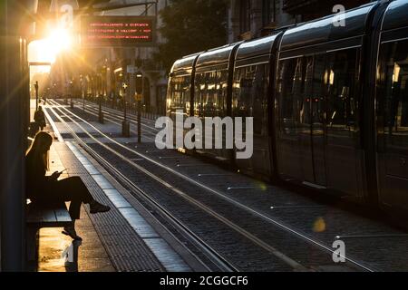
<path id="1" fill-rule="evenodd" d="M 254 134 L 267 135 L 267 63 L 238 68 L 234 74 L 232 113 L 234 117 L 253 117 Z"/>

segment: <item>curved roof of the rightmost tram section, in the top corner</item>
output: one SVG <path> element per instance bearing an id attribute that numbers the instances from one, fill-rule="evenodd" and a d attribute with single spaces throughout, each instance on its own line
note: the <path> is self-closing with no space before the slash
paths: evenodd
<path id="1" fill-rule="evenodd" d="M 408 0 L 396 0 L 388 5 L 384 14 L 383 30 L 408 26 Z"/>

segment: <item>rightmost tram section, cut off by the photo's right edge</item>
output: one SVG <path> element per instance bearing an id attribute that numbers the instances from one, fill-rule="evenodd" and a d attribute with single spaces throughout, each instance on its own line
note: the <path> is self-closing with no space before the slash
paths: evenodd
<path id="1" fill-rule="evenodd" d="M 408 209 L 408 1 L 388 7 L 376 78 L 379 198 L 386 208 Z"/>

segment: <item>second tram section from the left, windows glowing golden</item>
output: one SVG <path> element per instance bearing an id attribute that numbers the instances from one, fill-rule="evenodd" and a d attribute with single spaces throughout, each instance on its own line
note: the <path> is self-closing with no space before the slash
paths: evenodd
<path id="1" fill-rule="evenodd" d="M 203 125 L 199 142 L 203 149 L 196 152 L 229 165 L 233 162 L 233 148 L 226 146 L 226 136 L 231 135 L 233 128 L 228 128 L 231 124 L 228 126 L 228 121 L 225 123 L 224 118 L 230 117 L 232 73 L 239 45 L 240 43 L 232 43 L 202 53 L 195 66 L 194 116 L 198 117 Z M 222 122 L 217 124 L 215 118 Z M 206 121 L 214 121 L 214 124 L 207 128 Z"/>

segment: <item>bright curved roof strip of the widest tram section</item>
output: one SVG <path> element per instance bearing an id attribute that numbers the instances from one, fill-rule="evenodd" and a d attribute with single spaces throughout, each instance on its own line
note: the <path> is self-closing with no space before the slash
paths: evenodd
<path id="1" fill-rule="evenodd" d="M 367 16 L 374 5 L 377 3 L 346 11 L 345 26 L 335 26 L 338 15 L 333 14 L 290 28 L 283 35 L 281 51 L 363 35 Z"/>

